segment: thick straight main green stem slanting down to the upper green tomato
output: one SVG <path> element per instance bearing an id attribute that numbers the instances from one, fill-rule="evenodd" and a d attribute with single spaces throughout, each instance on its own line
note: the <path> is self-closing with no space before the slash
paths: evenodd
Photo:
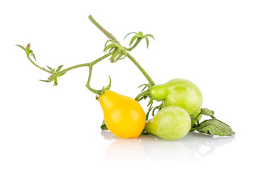
<path id="1" fill-rule="evenodd" d="M 97 23 L 97 21 L 95 21 L 94 18 L 92 18 L 92 16 L 89 16 L 90 21 L 92 21 L 92 23 L 99 28 L 102 33 L 104 33 L 107 38 L 110 38 L 111 40 L 114 40 L 114 42 L 116 42 L 117 44 L 120 45 L 120 43 L 118 42 L 117 38 L 114 37 L 114 35 L 112 35 L 111 33 L 109 33 L 107 30 L 105 30 L 105 28 L 103 28 L 102 26 L 100 26 L 99 23 Z M 132 60 L 132 62 L 139 68 L 139 70 L 142 72 L 142 74 L 144 74 L 144 76 L 146 77 L 146 79 L 149 81 L 149 84 L 151 84 L 151 86 L 154 86 L 154 81 L 151 79 L 151 77 L 149 77 L 149 74 L 146 73 L 146 71 L 139 65 L 139 63 L 132 57 L 132 55 L 129 55 L 129 53 L 127 53 L 127 57 L 129 58 L 129 60 Z"/>

